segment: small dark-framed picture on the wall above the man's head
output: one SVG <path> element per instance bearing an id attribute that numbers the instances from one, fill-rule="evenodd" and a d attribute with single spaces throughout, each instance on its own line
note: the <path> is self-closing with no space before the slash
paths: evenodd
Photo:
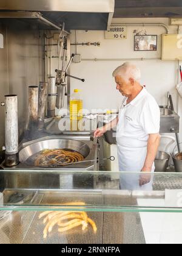
<path id="1" fill-rule="evenodd" d="M 135 51 L 157 51 L 157 35 L 135 35 Z"/>

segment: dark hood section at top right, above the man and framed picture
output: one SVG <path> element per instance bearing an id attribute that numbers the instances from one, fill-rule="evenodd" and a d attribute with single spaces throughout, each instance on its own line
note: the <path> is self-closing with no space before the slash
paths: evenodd
<path id="1" fill-rule="evenodd" d="M 182 16 L 181 0 L 115 0 L 113 18 Z"/>

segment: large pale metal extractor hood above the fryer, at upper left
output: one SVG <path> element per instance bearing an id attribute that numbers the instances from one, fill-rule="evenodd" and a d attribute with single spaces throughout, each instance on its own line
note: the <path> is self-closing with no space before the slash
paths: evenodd
<path id="1" fill-rule="evenodd" d="M 115 0 L 1 0 L 0 18 L 41 17 L 56 26 L 65 23 L 66 30 L 107 30 L 114 7 Z"/>

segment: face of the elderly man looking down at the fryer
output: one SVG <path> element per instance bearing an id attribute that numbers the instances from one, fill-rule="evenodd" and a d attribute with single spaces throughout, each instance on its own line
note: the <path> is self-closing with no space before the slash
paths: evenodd
<path id="1" fill-rule="evenodd" d="M 126 96 L 127 98 L 129 98 L 132 95 L 132 91 L 133 91 L 132 79 L 129 79 L 129 81 L 126 82 L 126 80 L 124 80 L 121 76 L 116 76 L 115 81 L 116 81 L 116 90 L 120 91 L 120 93 L 123 96 Z"/>

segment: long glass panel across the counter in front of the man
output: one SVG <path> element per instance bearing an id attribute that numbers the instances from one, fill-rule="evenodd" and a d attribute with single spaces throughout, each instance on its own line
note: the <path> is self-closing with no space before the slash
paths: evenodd
<path id="1" fill-rule="evenodd" d="M 0 179 L 5 181 L 1 211 L 182 213 L 181 173 L 141 176 L 140 172 L 39 169 L 2 171 Z"/>

